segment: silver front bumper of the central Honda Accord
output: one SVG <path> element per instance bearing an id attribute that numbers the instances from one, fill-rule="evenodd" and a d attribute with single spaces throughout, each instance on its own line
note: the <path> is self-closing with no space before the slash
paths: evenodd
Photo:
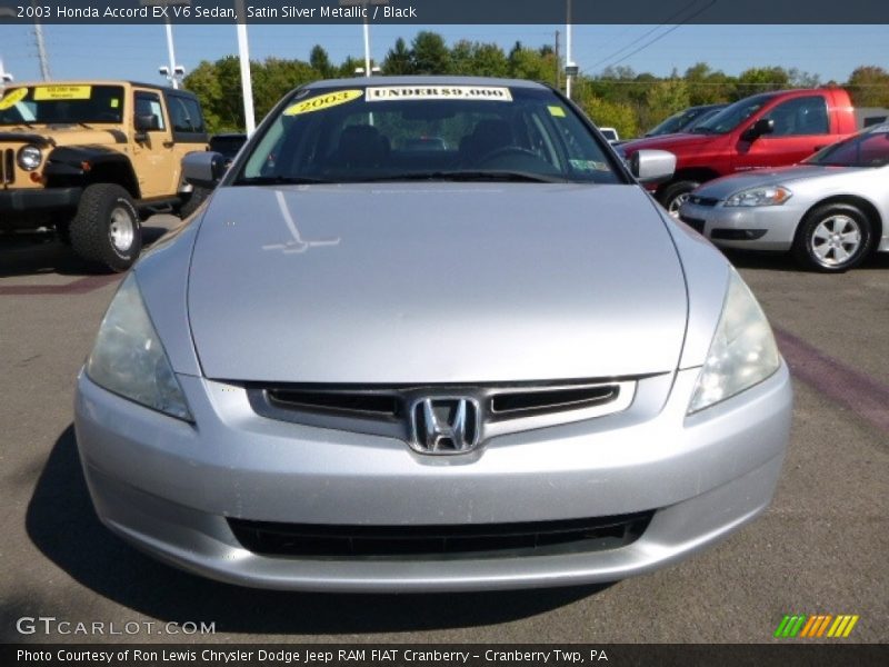
<path id="1" fill-rule="evenodd" d="M 81 374 L 76 429 L 101 520 L 153 556 L 216 579 L 334 591 L 579 585 L 673 563 L 769 504 L 790 426 L 786 367 L 687 417 L 697 375 L 643 380 L 621 414 L 501 436 L 458 457 L 266 419 L 241 388 L 188 376 L 180 382 L 196 426 Z M 628 546 L 521 558 L 261 556 L 243 548 L 227 521 L 428 526 L 645 510 L 656 510 L 653 518 Z"/>

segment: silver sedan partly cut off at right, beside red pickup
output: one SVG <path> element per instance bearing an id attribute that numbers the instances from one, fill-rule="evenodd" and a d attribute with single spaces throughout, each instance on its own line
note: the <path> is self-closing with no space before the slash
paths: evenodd
<path id="1" fill-rule="evenodd" d="M 717 246 L 790 250 L 819 271 L 845 271 L 871 252 L 889 252 L 889 126 L 797 167 L 710 181 L 679 217 Z"/>

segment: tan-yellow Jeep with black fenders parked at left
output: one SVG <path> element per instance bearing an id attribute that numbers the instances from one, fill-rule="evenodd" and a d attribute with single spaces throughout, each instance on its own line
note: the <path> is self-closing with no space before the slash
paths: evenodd
<path id="1" fill-rule="evenodd" d="M 181 162 L 207 139 L 200 103 L 183 90 L 12 84 L 0 93 L 0 231 L 54 229 L 86 260 L 126 270 L 143 216 L 197 208 Z"/>

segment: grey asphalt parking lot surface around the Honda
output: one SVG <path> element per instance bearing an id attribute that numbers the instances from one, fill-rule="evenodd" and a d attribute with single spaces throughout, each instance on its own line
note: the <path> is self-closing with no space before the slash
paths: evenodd
<path id="1" fill-rule="evenodd" d="M 156 238 L 169 223 L 149 222 Z M 795 374 L 790 451 L 765 516 L 690 560 L 605 587 L 333 596 L 203 580 L 102 528 L 71 406 L 119 277 L 89 275 L 54 241 L 0 238 L 0 641 L 196 640 L 159 628 L 204 621 L 208 641 L 761 643 L 785 614 L 859 615 L 848 641 L 889 641 L 889 256 L 841 276 L 731 259 Z M 22 635 L 21 617 L 141 629 Z"/>

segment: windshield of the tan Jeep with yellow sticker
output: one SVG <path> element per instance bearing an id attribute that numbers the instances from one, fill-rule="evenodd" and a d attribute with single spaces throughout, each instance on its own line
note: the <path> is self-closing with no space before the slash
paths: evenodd
<path id="1" fill-rule="evenodd" d="M 121 122 L 120 86 L 13 88 L 0 99 L 0 126 Z"/>

